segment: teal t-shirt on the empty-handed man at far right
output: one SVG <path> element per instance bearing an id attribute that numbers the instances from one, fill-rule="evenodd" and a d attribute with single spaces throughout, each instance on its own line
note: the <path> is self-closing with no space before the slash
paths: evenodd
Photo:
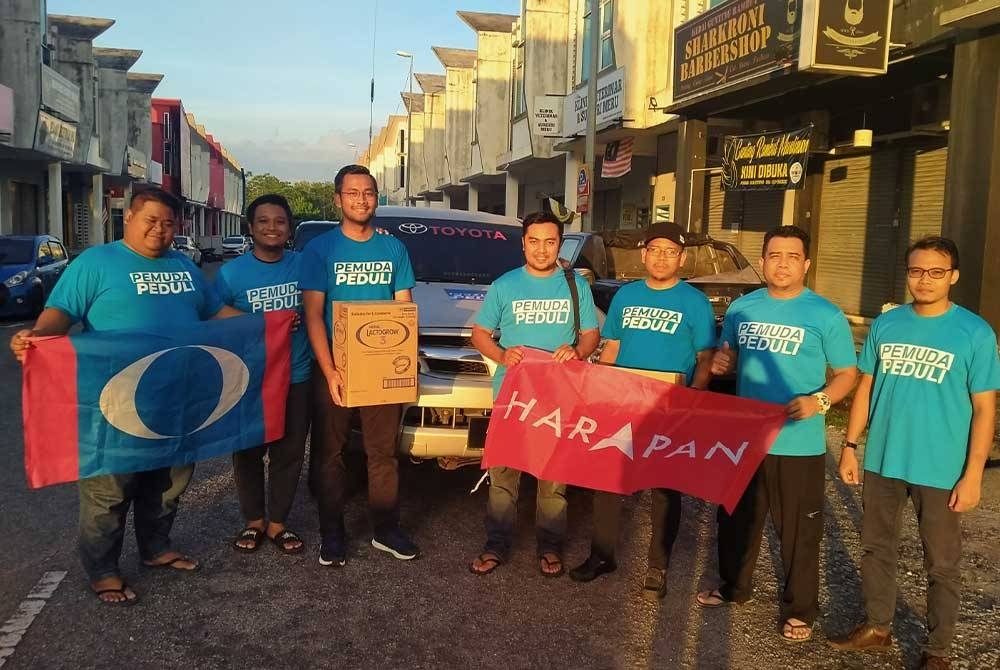
<path id="1" fill-rule="evenodd" d="M 970 395 L 1000 389 L 993 329 L 958 305 L 935 317 L 903 305 L 875 319 L 858 368 L 873 377 L 865 470 L 954 488 L 968 454 Z"/>

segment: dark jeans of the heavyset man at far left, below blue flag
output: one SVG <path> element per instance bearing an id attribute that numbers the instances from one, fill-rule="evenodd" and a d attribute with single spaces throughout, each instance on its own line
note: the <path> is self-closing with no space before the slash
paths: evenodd
<path id="1" fill-rule="evenodd" d="M 170 551 L 170 529 L 193 474 L 194 465 L 180 465 L 80 480 L 80 559 L 91 582 L 119 574 L 129 505 L 142 560 Z"/>

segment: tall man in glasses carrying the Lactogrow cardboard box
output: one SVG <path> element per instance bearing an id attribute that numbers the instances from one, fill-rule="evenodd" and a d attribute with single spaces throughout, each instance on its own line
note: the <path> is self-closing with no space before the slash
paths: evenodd
<path id="1" fill-rule="evenodd" d="M 333 301 L 402 300 L 411 302 L 413 267 L 403 243 L 380 234 L 372 223 L 378 184 L 368 168 L 348 165 L 334 179 L 340 225 L 310 242 L 303 253 L 302 297 L 309 342 L 316 357 L 313 373 L 313 438 L 309 481 L 319 503 L 322 535 L 319 562 L 339 567 L 347 562 L 344 503 L 347 473 L 343 450 L 351 434 L 353 410 L 343 406 L 344 380 L 333 364 Z M 400 560 L 420 550 L 399 526 L 399 463 L 396 440 L 402 405 L 358 408 L 368 456 L 368 507 L 374 529 L 372 546 Z"/>

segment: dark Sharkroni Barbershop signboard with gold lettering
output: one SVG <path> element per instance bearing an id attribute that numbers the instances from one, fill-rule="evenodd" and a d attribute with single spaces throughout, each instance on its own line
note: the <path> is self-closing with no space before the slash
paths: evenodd
<path id="1" fill-rule="evenodd" d="M 674 102 L 770 72 L 790 72 L 799 51 L 799 6 L 787 0 L 730 0 L 678 26 Z"/>

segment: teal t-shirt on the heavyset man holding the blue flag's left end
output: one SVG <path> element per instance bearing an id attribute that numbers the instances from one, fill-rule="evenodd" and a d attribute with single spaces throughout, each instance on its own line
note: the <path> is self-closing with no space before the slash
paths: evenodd
<path id="1" fill-rule="evenodd" d="M 171 330 L 210 319 L 222 301 L 205 275 L 173 249 L 146 258 L 121 240 L 87 249 L 45 303 L 84 330 Z"/>

